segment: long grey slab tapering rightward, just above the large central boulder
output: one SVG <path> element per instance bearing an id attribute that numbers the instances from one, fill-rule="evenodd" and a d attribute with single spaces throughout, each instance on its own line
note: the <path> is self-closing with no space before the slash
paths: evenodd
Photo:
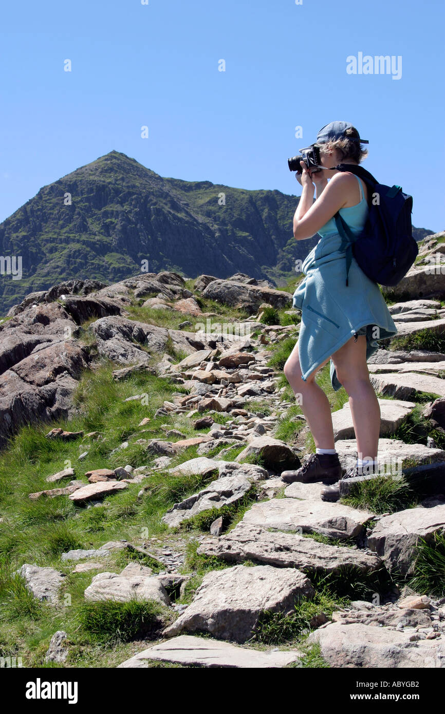
<path id="1" fill-rule="evenodd" d="M 234 563 L 253 560 L 279 568 L 298 568 L 304 573 L 334 573 L 345 565 L 369 573 L 382 565 L 380 558 L 362 550 L 318 543 L 296 533 L 271 532 L 243 521 L 219 538 L 205 538 L 196 553 Z"/>

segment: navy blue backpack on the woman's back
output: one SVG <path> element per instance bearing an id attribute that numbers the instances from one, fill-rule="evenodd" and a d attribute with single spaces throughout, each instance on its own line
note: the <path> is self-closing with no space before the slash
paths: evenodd
<path id="1" fill-rule="evenodd" d="M 411 211 L 413 198 L 403 193 L 401 186 L 385 186 L 355 164 L 339 164 L 338 171 L 351 171 L 362 178 L 369 191 L 369 216 L 359 236 L 337 212 L 334 216 L 337 230 L 348 241 L 346 248 L 346 285 L 352 256 L 361 270 L 375 283 L 394 286 L 411 268 L 419 253 L 412 235 Z"/>

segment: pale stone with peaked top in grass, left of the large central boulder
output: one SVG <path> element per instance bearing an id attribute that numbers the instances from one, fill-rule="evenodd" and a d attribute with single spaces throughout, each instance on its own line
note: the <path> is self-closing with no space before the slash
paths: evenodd
<path id="1" fill-rule="evenodd" d="M 85 590 L 85 600 L 114 600 L 127 603 L 129 600 L 156 600 L 162 605 L 170 605 L 161 581 L 151 575 L 150 568 L 130 563 L 120 574 L 98 573 Z"/>

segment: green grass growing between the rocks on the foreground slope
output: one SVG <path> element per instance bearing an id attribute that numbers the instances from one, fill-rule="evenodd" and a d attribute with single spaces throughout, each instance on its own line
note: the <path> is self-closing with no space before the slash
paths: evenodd
<path id="1" fill-rule="evenodd" d="M 206 310 L 213 310 L 219 316 L 214 321 L 227 318 L 240 318 L 239 311 L 221 308 L 217 303 L 201 301 Z M 182 315 L 161 311 L 147 311 L 134 306 L 134 318 L 159 325 L 176 327 L 184 319 Z M 273 321 L 289 323 L 285 311 L 274 314 Z M 199 318 L 190 316 L 194 323 Z M 85 326 L 86 327 L 86 326 Z M 271 350 L 271 363 L 282 368 L 287 354 L 294 346 L 295 336 L 284 338 Z M 176 355 L 176 360 L 181 355 Z M 154 361 L 159 356 L 154 356 Z M 116 493 L 104 499 L 103 505 L 91 508 L 74 506 L 66 496 L 54 499 L 30 501 L 28 494 L 51 488 L 46 483 L 46 476 L 72 466 L 74 478 L 83 479 L 84 473 L 92 468 L 116 468 L 125 466 L 150 466 L 153 458 L 146 456 L 144 447 L 134 443 L 137 438 L 164 438 L 166 428 L 176 428 L 188 436 L 196 436 L 191 428 L 191 420 L 179 414 L 158 416 L 156 409 L 173 392 L 184 391 L 181 386 L 168 379 L 139 374 L 125 382 L 116 383 L 111 379 L 111 371 L 116 366 L 102 363 L 94 373 L 86 373 L 76 392 L 77 416 L 71 421 L 58 421 L 51 426 L 61 426 L 70 431 L 83 430 L 84 433 L 99 431 L 100 439 L 79 438 L 78 441 L 57 443 L 45 438 L 48 425 L 27 426 L 11 441 L 9 448 L 0 454 L 0 656 L 21 656 L 26 666 L 45 665 L 44 653 L 51 635 L 58 629 L 66 630 L 71 643 L 67 666 L 115 666 L 132 654 L 140 651 L 159 639 L 159 623 L 169 623 L 174 615 L 165 608 L 155 607 L 152 603 L 84 603 L 84 589 L 91 582 L 96 571 L 72 573 L 75 563 L 61 563 L 60 555 L 70 548 L 94 548 L 108 540 L 125 538 L 136 545 L 146 543 L 149 538 L 159 538 L 164 544 L 175 547 L 178 538 L 186 540 L 186 562 L 181 570 L 191 575 L 182 602 L 189 602 L 203 575 L 214 568 L 227 567 L 214 558 L 196 555 L 199 545 L 198 536 L 209 529 L 215 515 L 204 514 L 195 519 L 186 528 L 173 531 L 161 522 L 161 516 L 184 496 L 195 493 L 210 481 L 200 476 L 177 478 L 167 473 L 154 473 L 141 485 L 130 485 L 126 491 Z M 331 389 L 329 365 L 325 366 L 317 381 L 326 391 L 331 408 L 341 408 L 347 400 L 342 388 L 338 392 Z M 286 386 L 284 378 L 281 385 Z M 129 396 L 147 394 L 148 400 L 124 402 Z M 287 385 L 283 398 L 292 398 Z M 148 402 L 148 403 L 147 403 Z M 249 409 L 266 412 L 269 407 L 263 401 L 252 401 Z M 269 408 L 270 411 L 270 408 Z M 304 422 L 294 417 L 301 413 L 298 405 L 291 406 L 279 421 L 276 436 L 284 441 L 296 438 Z M 214 414 L 216 421 L 224 423 L 230 417 Z M 144 417 L 149 417 L 147 426 L 139 427 Z M 164 427 L 164 428 L 163 428 Z M 419 429 L 423 436 L 429 433 L 429 425 L 422 423 L 416 412 L 411 422 L 404 428 L 405 441 L 419 440 Z M 207 430 L 204 430 L 207 431 Z M 426 436 L 425 436 L 426 438 Z M 130 446 L 124 451 L 114 451 L 124 441 Z M 308 451 L 313 450 L 313 442 L 307 443 Z M 89 449 L 88 456 L 79 461 L 81 452 Z M 114 451 L 114 453 L 112 453 Z M 234 458 L 236 451 L 227 458 Z M 189 460 L 196 456 L 196 447 L 190 447 L 174 463 Z M 138 493 L 144 486 L 141 497 Z M 351 504 L 366 508 L 379 506 L 380 512 L 394 511 L 416 503 L 410 500 L 411 494 L 404 491 L 400 484 L 392 488 L 391 483 L 376 486 L 373 491 L 360 490 L 351 496 Z M 224 526 L 231 528 L 239 521 L 251 499 L 256 497 L 254 490 L 248 498 L 234 508 L 224 511 Z M 354 500 L 355 499 L 355 500 Z M 441 550 L 442 549 L 442 550 Z M 438 543 L 435 552 L 425 545 L 421 552 L 421 568 L 416 573 L 416 583 L 423 592 L 441 588 L 443 580 L 444 543 Z M 420 557 L 420 556 L 419 556 Z M 108 559 L 101 560 L 101 570 L 120 572 L 129 558 L 122 551 L 115 551 Z M 138 558 L 139 559 L 139 558 Z M 154 565 L 151 560 L 144 560 L 146 565 Z M 51 608 L 38 603 L 29 595 L 21 578 L 14 575 L 14 570 L 22 563 L 36 563 L 51 566 L 66 573 L 63 605 Z M 249 563 L 246 563 L 249 565 Z M 156 572 L 156 567 L 154 568 Z M 389 584 L 367 582 L 366 578 L 349 578 L 351 588 L 344 591 L 344 580 L 331 578 L 316 583 L 317 596 L 314 603 L 300 603 L 291 618 L 265 616 L 261 619 L 258 631 L 248 646 L 264 648 L 271 644 L 291 648 L 296 644 L 303 646 L 307 631 L 311 629 L 310 620 L 316 612 L 323 610 L 327 615 L 339 608 L 348 598 L 366 598 L 370 593 L 379 592 L 376 588 Z M 346 598 L 346 600 L 345 600 Z M 308 650 L 306 666 L 324 666 L 316 649 Z M 159 666 L 155 663 L 153 666 Z"/>

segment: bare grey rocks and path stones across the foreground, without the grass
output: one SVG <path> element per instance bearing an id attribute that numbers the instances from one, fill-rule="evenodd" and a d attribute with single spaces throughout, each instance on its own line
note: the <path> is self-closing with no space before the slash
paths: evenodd
<path id="1" fill-rule="evenodd" d="M 432 237 L 426 243 L 428 250 L 443 245 L 437 241 L 438 236 Z M 414 273 L 417 276 L 423 270 L 416 267 Z M 294 402 L 284 401 L 284 388 L 277 385 L 281 373 L 268 366 L 266 348 L 286 336 L 296 338 L 299 326 L 261 322 L 266 307 L 291 305 L 289 293 L 265 282 L 259 284 L 240 274 L 226 281 L 200 276 L 192 293 L 178 273 L 147 273 L 113 286 L 97 286 L 92 281 L 56 286 L 34 293 L 11 309 L 9 319 L 0 325 L 3 441 L 25 421 L 69 416 L 82 371 L 94 368 L 98 359 L 116 363 L 113 378 L 119 381 L 134 371 L 153 370 L 150 358 L 154 355 L 161 355 L 156 374 L 181 386 L 155 416 L 168 421 L 184 415 L 196 431 L 196 437 L 190 438 L 166 425 L 165 438 L 145 438 L 143 433 L 137 443 L 146 450 L 150 466 L 126 464 L 129 443 L 124 442 L 119 468 L 86 472 L 81 481 L 69 480 L 74 476 L 72 469 L 55 473 L 47 478 L 46 491 L 29 494 L 31 501 L 66 496 L 79 508 L 100 508 L 102 499 L 114 491 L 134 488 L 142 498 L 154 473 L 206 477 L 204 488 L 164 513 L 162 521 L 169 529 L 165 538 L 110 541 L 101 548 L 69 550 L 61 555 L 61 570 L 25 563 L 20 574 L 31 592 L 49 606 L 57 605 L 66 566 L 79 573 L 101 570 L 86 587 L 84 595 L 90 602 L 125 602 L 136 595 L 169 610 L 173 617 L 161 640 L 119 665 L 139 668 L 150 666 L 153 660 L 210 667 L 299 665 L 304 655 L 298 649 L 260 651 L 251 648 L 249 640 L 264 613 L 290 617 L 296 604 L 314 600 L 320 577 L 347 572 L 351 583 L 374 578 L 375 588 L 380 589 L 374 593 L 375 602 L 354 600 L 330 618 L 320 610 L 311 621 L 308 642 L 319 645 L 329 665 L 444 666 L 445 598 L 421 596 L 409 588 L 401 591 L 396 581 L 387 583 L 393 575 L 412 573 L 419 540 L 431 540 L 445 529 L 445 450 L 431 434 L 421 435 L 419 443 L 391 438 L 396 431 L 403 436 L 401 427 L 419 409 L 436 440 L 445 435 L 445 354 L 434 349 L 394 351 L 386 344 L 369 363 L 374 388 L 381 396 L 379 456 L 399 463 L 399 477 L 409 477 L 419 493 L 418 505 L 382 514 L 341 501 L 325 503 L 319 496 L 323 484 L 286 486 L 281 479 L 283 471 L 299 468 L 307 458 L 309 429 L 299 414 L 303 427 L 298 437 L 292 443 L 276 438 L 276 429 Z M 404 294 L 406 300 L 390 306 L 399 336 L 421 333 L 433 343 L 445 333 L 442 286 L 431 288 L 428 299 L 411 287 L 409 296 Z M 233 339 L 222 330 L 210 335 L 187 331 L 191 326 L 187 320 L 177 330 L 161 328 L 134 320 L 129 313 L 136 298 L 159 311 L 203 318 L 214 315 L 201 312 L 195 299 L 200 295 L 246 309 L 249 317 L 242 324 L 259 336 Z M 86 321 L 96 353 L 82 339 Z M 171 343 L 186 354 L 179 362 L 166 352 Z M 424 393 L 429 396 L 427 402 L 420 401 Z M 249 408 L 259 402 L 264 404 L 264 413 Z M 217 421 L 221 413 L 229 417 L 224 424 Z M 347 403 L 334 411 L 333 421 L 345 472 L 357 456 Z M 54 429 L 48 437 L 76 435 Z M 175 466 L 175 457 L 189 446 L 197 446 L 198 456 Z M 237 456 L 230 458 L 239 447 Z M 350 488 L 351 483 L 341 495 L 347 495 Z M 218 511 L 224 514 L 227 508 L 246 503 L 249 496 L 252 502 L 244 516 L 230 531 L 224 530 Z M 209 511 L 215 517 L 209 531 L 199 536 L 197 555 L 225 567 L 204 575 L 189 605 L 176 604 L 190 578 L 181 573 L 188 542 L 184 528 Z M 119 550 L 149 555 L 161 568 L 155 573 L 133 562 L 120 572 L 104 570 L 104 560 Z M 202 638 L 202 633 L 208 636 Z M 66 646 L 63 635 L 59 631 L 54 635 L 54 647 L 59 642 Z M 48 656 L 53 655 L 49 652 Z"/>

